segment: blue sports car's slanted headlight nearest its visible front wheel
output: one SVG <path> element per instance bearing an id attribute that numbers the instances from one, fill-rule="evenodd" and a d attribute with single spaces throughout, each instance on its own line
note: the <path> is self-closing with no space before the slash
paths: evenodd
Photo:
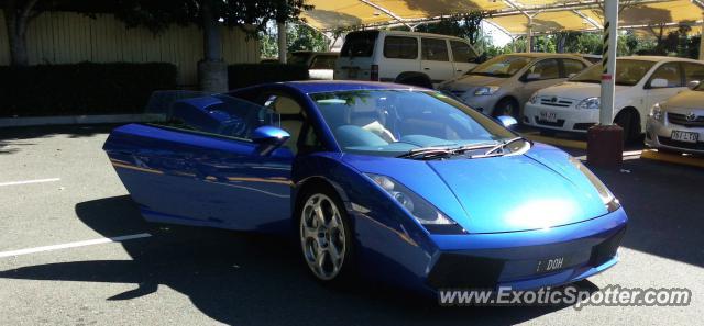
<path id="1" fill-rule="evenodd" d="M 446 216 L 440 210 L 406 186 L 386 176 L 373 173 L 366 173 L 366 176 L 396 200 L 428 232 L 437 234 L 466 233 L 457 222 Z"/>

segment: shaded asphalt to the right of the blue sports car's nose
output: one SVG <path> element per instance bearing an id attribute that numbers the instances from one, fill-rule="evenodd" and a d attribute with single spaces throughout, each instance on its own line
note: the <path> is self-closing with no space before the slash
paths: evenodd
<path id="1" fill-rule="evenodd" d="M 702 169 L 631 159 L 617 169 L 592 170 L 628 214 L 623 246 L 704 267 Z"/>

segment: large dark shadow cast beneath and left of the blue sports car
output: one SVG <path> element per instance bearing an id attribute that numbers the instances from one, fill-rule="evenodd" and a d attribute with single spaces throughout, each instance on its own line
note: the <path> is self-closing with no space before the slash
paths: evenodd
<path id="1" fill-rule="evenodd" d="M 106 237 L 145 229 L 154 236 L 122 243 L 132 260 L 30 266 L 2 271 L 0 278 L 135 284 L 106 300 L 130 300 L 167 285 L 209 317 L 238 325 L 503 325 L 568 307 L 440 307 L 433 300 L 365 281 L 329 289 L 309 276 L 290 239 L 147 225 L 127 195 L 79 203 L 76 213 Z M 588 281 L 578 286 L 598 290 Z"/>

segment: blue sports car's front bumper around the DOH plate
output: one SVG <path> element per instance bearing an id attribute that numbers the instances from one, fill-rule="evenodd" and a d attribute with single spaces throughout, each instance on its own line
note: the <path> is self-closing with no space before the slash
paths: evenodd
<path id="1" fill-rule="evenodd" d="M 626 232 L 623 209 L 548 229 L 503 234 L 432 235 L 438 251 L 429 266 L 430 290 L 448 288 L 514 290 L 557 286 L 602 272 L 617 261 Z M 537 262 L 565 257 L 562 269 L 537 272 Z"/>

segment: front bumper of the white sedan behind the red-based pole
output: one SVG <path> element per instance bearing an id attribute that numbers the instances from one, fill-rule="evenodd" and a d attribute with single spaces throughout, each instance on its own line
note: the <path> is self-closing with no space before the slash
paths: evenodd
<path id="1" fill-rule="evenodd" d="M 557 121 L 540 120 L 540 112 L 554 113 Z M 558 108 L 528 102 L 524 109 L 522 122 L 540 128 L 586 133 L 591 126 L 598 123 L 598 110 L 579 110 L 574 106 Z"/>

